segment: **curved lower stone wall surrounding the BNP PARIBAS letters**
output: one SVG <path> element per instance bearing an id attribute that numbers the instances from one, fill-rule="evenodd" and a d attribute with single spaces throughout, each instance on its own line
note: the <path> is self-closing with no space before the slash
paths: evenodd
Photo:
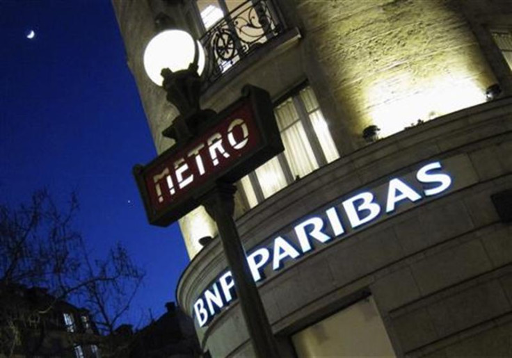
<path id="1" fill-rule="evenodd" d="M 512 188 L 511 129 L 511 98 L 467 108 L 340 158 L 240 218 L 251 252 L 338 198 L 361 190 L 383 197 L 391 178 L 410 181 L 425 163 L 440 161 L 451 175 L 451 187 L 439 197 L 404 204 L 317 243 L 277 272 L 266 268 L 259 291 L 282 344 L 362 292 L 374 296 L 399 355 L 462 352 L 467 342 L 461 342 L 486 339 L 479 332 L 496 318 L 502 320 L 496 329 L 504 329 L 512 319 L 511 228 L 499 222 L 490 195 Z M 211 243 L 184 272 L 179 304 L 193 316 L 195 300 L 225 269 L 220 243 Z M 458 309 L 461 302 L 474 311 Z M 250 352 L 237 301 L 196 329 L 213 356 Z"/>

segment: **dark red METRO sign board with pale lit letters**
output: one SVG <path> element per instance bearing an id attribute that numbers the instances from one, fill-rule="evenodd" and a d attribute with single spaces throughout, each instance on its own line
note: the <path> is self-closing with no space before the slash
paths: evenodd
<path id="1" fill-rule="evenodd" d="M 234 183 L 284 150 L 268 92 L 254 86 L 243 92 L 195 138 L 135 166 L 152 225 L 168 226 L 199 206 L 218 181 Z"/>

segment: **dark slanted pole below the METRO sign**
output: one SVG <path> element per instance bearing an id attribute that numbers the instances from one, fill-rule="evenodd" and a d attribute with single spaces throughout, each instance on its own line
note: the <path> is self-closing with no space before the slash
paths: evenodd
<path id="1" fill-rule="evenodd" d="M 240 300 L 256 356 L 279 358 L 278 346 L 233 220 L 236 191 L 236 186 L 232 184 L 217 183 L 215 188 L 202 199 L 202 204 L 217 224 L 218 236 L 221 238 L 225 257 L 231 268 L 234 288 Z"/>

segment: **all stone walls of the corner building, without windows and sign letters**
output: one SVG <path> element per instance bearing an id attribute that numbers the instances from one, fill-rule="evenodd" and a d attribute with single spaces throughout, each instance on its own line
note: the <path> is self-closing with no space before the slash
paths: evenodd
<path id="1" fill-rule="evenodd" d="M 112 1 L 161 153 L 173 144 L 161 131 L 178 113 L 145 76 L 143 49 L 156 31 L 154 17 L 164 13 L 187 27 L 193 0 Z M 246 83 L 278 99 L 307 80 L 341 158 L 250 211 L 237 202 L 249 254 L 272 247 L 277 236 L 339 200 L 362 191 L 382 200 L 392 178 L 413 182 L 428 163 L 442 163 L 452 176 L 440 195 L 422 192 L 421 200 L 405 200 L 357 229 L 343 214 L 343 234 L 276 270 L 266 265 L 259 291 L 282 356 L 292 355 L 291 334 L 367 294 L 399 357 L 511 356 L 512 231 L 490 200 L 512 189 L 512 97 L 506 97 L 512 72 L 490 35 L 490 29 L 512 29 L 510 1 L 275 3 L 285 34 L 226 72 L 202 105 L 220 110 Z M 484 103 L 495 82 L 502 99 Z M 418 120 L 424 123 L 403 130 Z M 387 138 L 367 145 L 360 134 L 369 124 Z M 218 241 L 198 244 L 199 237 L 215 234 L 201 209 L 180 225 L 193 260 L 177 297 L 193 315 L 196 300 L 226 263 Z M 196 328 L 212 356 L 252 354 L 236 300 Z"/>

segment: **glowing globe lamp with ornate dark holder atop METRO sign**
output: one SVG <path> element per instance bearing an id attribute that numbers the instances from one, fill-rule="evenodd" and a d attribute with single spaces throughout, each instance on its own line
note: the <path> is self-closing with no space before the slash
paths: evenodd
<path id="1" fill-rule="evenodd" d="M 144 52 L 144 68 L 147 76 L 166 90 L 167 100 L 180 113 L 174 124 L 163 131 L 163 136 L 177 142 L 188 140 L 197 132 L 202 120 L 215 114 L 200 108 L 200 75 L 205 70 L 205 50 L 186 31 L 166 30 L 152 38 Z"/>

